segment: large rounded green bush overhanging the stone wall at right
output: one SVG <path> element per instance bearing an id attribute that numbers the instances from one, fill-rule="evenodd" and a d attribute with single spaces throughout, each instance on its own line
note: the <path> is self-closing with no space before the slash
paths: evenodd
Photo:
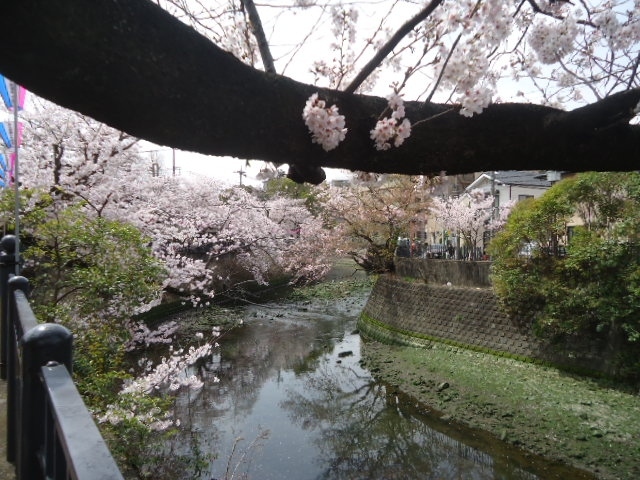
<path id="1" fill-rule="evenodd" d="M 505 305 L 533 314 L 546 334 L 640 341 L 639 182 L 635 172 L 589 172 L 519 203 L 491 243 Z M 574 215 L 580 222 L 564 255 L 560 240 Z"/>

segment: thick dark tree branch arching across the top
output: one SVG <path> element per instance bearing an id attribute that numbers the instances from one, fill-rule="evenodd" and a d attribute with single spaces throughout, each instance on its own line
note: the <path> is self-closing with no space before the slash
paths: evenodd
<path id="1" fill-rule="evenodd" d="M 626 122 L 638 89 L 572 112 L 501 104 L 473 118 L 447 111 L 451 105 L 406 102 L 411 137 L 377 151 L 369 135 L 384 98 L 255 70 L 147 0 L 5 0 L 0 48 L 0 72 L 60 105 L 160 145 L 294 164 L 299 180 L 318 181 L 322 166 L 404 174 L 633 170 L 640 158 L 640 127 Z M 349 129 L 330 152 L 311 142 L 302 120 L 317 91 Z"/>

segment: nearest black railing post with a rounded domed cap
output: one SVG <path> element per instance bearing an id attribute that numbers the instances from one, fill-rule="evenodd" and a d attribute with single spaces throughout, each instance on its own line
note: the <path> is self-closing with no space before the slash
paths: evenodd
<path id="1" fill-rule="evenodd" d="M 71 372 L 73 335 L 57 323 L 41 323 L 25 333 L 20 342 L 22 353 L 22 401 L 20 402 L 18 478 L 37 478 L 44 455 L 46 397 L 40 381 L 40 369 L 48 362 L 66 365 Z M 40 475 L 42 471 L 40 470 Z"/>

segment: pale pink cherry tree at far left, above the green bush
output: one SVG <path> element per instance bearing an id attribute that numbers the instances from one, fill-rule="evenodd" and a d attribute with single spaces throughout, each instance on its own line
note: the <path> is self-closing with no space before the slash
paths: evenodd
<path id="1" fill-rule="evenodd" d="M 127 207 L 150 177 L 139 139 L 37 97 L 32 103 L 21 113 L 20 182 L 60 201 L 82 200 L 98 216 Z"/>

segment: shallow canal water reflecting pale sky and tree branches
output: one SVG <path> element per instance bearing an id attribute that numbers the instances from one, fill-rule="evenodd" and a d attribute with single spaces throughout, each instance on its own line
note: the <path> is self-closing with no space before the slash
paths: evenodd
<path id="1" fill-rule="evenodd" d="M 365 301 L 246 309 L 204 367 L 205 387 L 180 401 L 212 457 L 203 478 L 579 478 L 376 381 L 355 332 Z"/>

